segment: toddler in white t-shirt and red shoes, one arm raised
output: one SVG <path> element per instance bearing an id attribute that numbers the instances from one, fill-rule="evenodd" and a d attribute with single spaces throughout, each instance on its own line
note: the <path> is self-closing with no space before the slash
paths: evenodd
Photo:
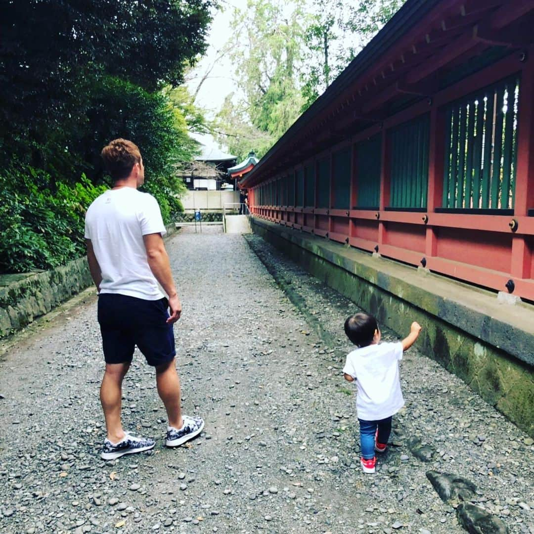
<path id="1" fill-rule="evenodd" d="M 345 320 L 345 334 L 358 347 L 347 356 L 343 374 L 349 382 L 356 380 L 358 388 L 356 409 L 364 473 L 374 473 L 374 452 L 386 451 L 391 418 L 404 406 L 398 363 L 420 331 L 421 326 L 412 323 L 410 334 L 402 341 L 380 343 L 380 330 L 372 315 L 356 313 Z"/>

